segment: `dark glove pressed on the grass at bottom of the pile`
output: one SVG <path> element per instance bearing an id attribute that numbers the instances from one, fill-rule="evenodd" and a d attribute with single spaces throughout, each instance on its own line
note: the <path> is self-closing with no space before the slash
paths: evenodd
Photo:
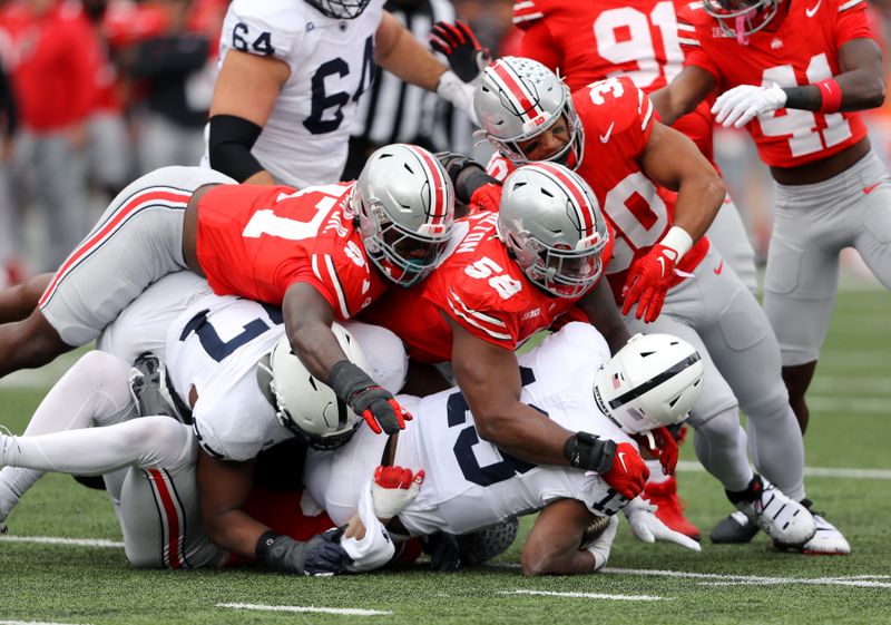
<path id="1" fill-rule="evenodd" d="M 257 541 L 256 560 L 282 573 L 336 575 L 352 561 L 340 545 L 341 535 L 343 530 L 335 527 L 301 543 L 267 531 Z"/>

